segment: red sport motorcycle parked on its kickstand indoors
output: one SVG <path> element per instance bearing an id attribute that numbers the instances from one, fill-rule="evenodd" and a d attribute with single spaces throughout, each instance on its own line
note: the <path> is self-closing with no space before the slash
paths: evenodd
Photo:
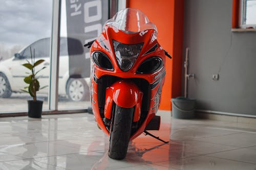
<path id="1" fill-rule="evenodd" d="M 159 139 L 147 130 L 160 127 L 156 112 L 165 56 L 171 57 L 157 42 L 154 23 L 132 8 L 106 21 L 99 37 L 84 46 L 91 47 L 93 114 L 98 127 L 110 136 L 109 157 L 123 159 L 129 141 L 141 133 Z"/>

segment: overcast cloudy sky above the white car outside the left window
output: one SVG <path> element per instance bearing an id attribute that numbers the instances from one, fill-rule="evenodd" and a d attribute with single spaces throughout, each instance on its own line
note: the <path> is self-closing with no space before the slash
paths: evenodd
<path id="1" fill-rule="evenodd" d="M 0 42 L 28 45 L 50 37 L 52 0 L 5 0 L 0 5 Z"/>

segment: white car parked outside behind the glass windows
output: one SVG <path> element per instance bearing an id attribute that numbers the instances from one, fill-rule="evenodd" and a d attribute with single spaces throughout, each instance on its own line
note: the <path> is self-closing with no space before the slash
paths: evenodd
<path id="1" fill-rule="evenodd" d="M 33 51 L 35 49 L 35 60 L 44 59 L 45 62 L 41 64 L 46 66 L 39 72 L 39 83 L 41 87 L 49 85 L 50 80 L 50 38 L 39 39 L 28 47 L 15 54 L 12 58 L 0 62 L 0 97 L 9 98 L 12 92 L 21 92 L 28 86 L 24 82 L 24 78 L 28 76 L 26 72 L 28 69 L 22 64 L 27 60 L 31 61 L 30 47 Z M 37 68 L 38 67 L 38 68 Z M 36 70 L 40 66 L 35 67 Z M 67 95 L 72 101 L 82 101 L 90 99 L 89 87 L 85 81 L 86 79 L 74 79 L 69 75 L 69 56 L 67 51 L 67 38 L 60 38 L 60 57 L 59 57 L 59 86 L 58 94 Z M 49 88 L 44 88 L 38 93 L 48 94 Z"/>

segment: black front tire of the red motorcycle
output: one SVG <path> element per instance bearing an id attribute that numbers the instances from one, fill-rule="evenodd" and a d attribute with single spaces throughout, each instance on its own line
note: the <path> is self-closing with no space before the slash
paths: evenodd
<path id="1" fill-rule="evenodd" d="M 112 159 L 123 159 L 126 156 L 134 108 L 122 108 L 116 105 L 114 122 L 111 126 L 109 157 Z"/>

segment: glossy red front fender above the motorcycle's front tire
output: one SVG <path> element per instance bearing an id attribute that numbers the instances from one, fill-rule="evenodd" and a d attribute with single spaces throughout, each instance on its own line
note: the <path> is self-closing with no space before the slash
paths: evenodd
<path id="1" fill-rule="evenodd" d="M 136 84 L 130 81 L 117 81 L 106 89 L 104 116 L 111 118 L 113 101 L 123 108 L 135 107 L 133 122 L 140 118 L 140 108 L 143 93 Z"/>

